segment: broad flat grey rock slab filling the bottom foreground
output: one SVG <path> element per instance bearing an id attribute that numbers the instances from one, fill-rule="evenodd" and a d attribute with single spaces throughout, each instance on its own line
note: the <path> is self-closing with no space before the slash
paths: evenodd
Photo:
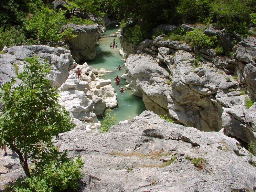
<path id="1" fill-rule="evenodd" d="M 83 157 L 86 171 L 80 191 L 252 191 L 255 187 L 256 168 L 248 163 L 250 155 L 238 141 L 223 133 L 169 123 L 149 111 L 112 126 L 107 133 L 61 133 L 56 146 L 68 150 L 70 157 Z"/>

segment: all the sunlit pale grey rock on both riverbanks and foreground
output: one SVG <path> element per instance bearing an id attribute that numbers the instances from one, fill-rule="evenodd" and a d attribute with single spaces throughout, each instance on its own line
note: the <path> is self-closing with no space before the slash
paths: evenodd
<path id="1" fill-rule="evenodd" d="M 208 32 L 228 37 L 216 29 Z M 1 83 L 15 78 L 26 57 L 48 59 L 59 102 L 77 124 L 54 143 L 70 157 L 84 158 L 80 191 L 254 191 L 256 168 L 251 164 L 256 158 L 226 134 L 255 141 L 256 108 L 244 106 L 246 97 L 255 99 L 255 44 L 253 37 L 242 40 L 230 59 L 213 49 L 163 40 L 162 35 L 145 40 L 127 58 L 129 72 L 123 78 L 153 112 L 101 134 L 97 116 L 117 105 L 116 93 L 111 80 L 98 78 L 107 71 L 78 65 L 71 51 L 40 45 L 8 48 L 0 55 L 0 78 Z M 195 66 L 198 51 L 203 59 Z M 75 75 L 78 66 L 81 80 Z M 17 155 L 7 152 L 0 154 L 1 188 L 24 176 Z"/>

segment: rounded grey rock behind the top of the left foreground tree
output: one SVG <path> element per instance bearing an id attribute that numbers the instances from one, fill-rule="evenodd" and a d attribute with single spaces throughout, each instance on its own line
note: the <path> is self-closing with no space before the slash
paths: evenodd
<path id="1" fill-rule="evenodd" d="M 69 67 L 76 66 L 71 52 L 65 48 L 44 45 L 14 46 L 8 48 L 6 54 L 1 55 L 1 81 L 7 82 L 10 81 L 11 77 L 16 77 L 16 74 L 23 70 L 26 63 L 24 59 L 35 55 L 37 55 L 39 62 L 44 62 L 44 59 L 47 59 L 51 65 L 48 78 L 54 87 L 60 87 L 69 76 Z"/>

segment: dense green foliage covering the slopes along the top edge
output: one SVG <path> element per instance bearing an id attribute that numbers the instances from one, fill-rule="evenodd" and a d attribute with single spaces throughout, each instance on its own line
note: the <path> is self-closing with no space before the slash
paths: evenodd
<path id="1" fill-rule="evenodd" d="M 129 21 L 125 30 L 133 44 L 156 35 L 151 34 L 151 29 L 160 24 L 178 26 L 184 22 L 213 25 L 243 36 L 256 34 L 248 29 L 256 27 L 256 0 L 66 0 L 65 3 L 65 10 L 61 11 L 53 9 L 48 0 L 1 1 L 0 48 L 58 41 L 63 37 L 62 25 L 93 24 L 88 20 L 90 14 L 107 14 L 123 26 Z"/>

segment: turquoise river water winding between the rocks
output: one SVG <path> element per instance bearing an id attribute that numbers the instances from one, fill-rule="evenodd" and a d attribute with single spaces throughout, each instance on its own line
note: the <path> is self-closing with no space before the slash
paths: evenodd
<path id="1" fill-rule="evenodd" d="M 104 34 L 105 36 L 110 35 L 112 33 L 117 32 L 119 27 L 109 27 L 107 28 L 107 32 Z M 115 39 L 115 42 L 118 45 L 118 49 L 111 49 L 110 43 L 113 44 L 113 40 Z M 95 69 L 101 69 L 104 68 L 106 70 L 112 71 L 111 73 L 106 73 L 101 78 L 107 80 L 111 79 L 112 87 L 116 90 L 116 97 L 118 101 L 118 107 L 113 109 L 113 113 L 115 113 L 117 120 L 115 124 L 119 123 L 120 121 L 124 120 L 130 120 L 133 117 L 136 117 L 140 115 L 144 110 L 146 110 L 144 102 L 142 101 L 142 98 L 136 97 L 132 95 L 132 90 L 127 89 L 123 93 L 120 93 L 118 90 L 118 85 L 114 82 L 115 77 L 118 75 L 121 82 L 119 82 L 120 89 L 123 87 L 125 89 L 126 80 L 121 78 L 121 75 L 123 73 L 127 73 L 127 67 L 123 66 L 123 61 L 121 60 L 122 57 L 119 54 L 119 49 L 121 48 L 121 44 L 118 37 L 101 37 L 99 39 L 100 45 L 96 47 L 97 54 L 96 59 L 93 61 L 88 61 L 88 65 L 95 68 Z M 122 70 L 117 70 L 116 68 L 118 65 L 121 66 Z M 98 118 L 100 121 L 102 118 Z"/>

